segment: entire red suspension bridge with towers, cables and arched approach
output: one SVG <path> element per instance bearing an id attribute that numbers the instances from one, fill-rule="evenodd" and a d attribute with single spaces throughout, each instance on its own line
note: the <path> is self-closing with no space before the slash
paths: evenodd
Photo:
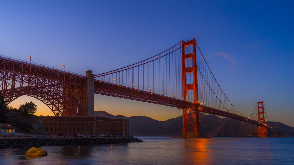
<path id="1" fill-rule="evenodd" d="M 94 75 L 0 55 L 0 90 L 6 104 L 22 95 L 44 102 L 63 116 L 94 115 L 94 94 L 183 109 L 182 136 L 200 137 L 198 112 L 229 117 L 260 127 L 265 136 L 263 102 L 250 116 L 238 112 L 218 85 L 195 38 L 151 58 Z M 254 115 L 255 114 L 255 115 Z"/>

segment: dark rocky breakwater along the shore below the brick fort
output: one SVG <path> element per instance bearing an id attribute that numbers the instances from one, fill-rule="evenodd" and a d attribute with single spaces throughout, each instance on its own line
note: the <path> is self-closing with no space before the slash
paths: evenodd
<path id="1" fill-rule="evenodd" d="M 1 139 L 0 148 L 40 147 L 40 146 L 66 146 L 91 144 L 118 144 L 130 142 L 143 142 L 137 138 L 65 138 L 65 139 Z"/>

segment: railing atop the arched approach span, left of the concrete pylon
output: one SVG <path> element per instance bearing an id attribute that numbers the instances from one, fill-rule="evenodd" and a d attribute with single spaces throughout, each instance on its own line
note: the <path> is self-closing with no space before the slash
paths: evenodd
<path id="1" fill-rule="evenodd" d="M 31 66 L 35 66 L 35 67 L 40 67 L 40 68 L 44 68 L 44 69 L 55 70 L 55 71 L 58 71 L 58 72 L 64 72 L 64 73 L 75 75 L 75 76 L 86 77 L 86 75 L 83 75 L 83 74 L 74 73 L 74 72 L 70 72 L 70 71 L 67 71 L 67 70 L 62 70 L 62 69 L 59 69 L 59 68 L 54 68 L 54 67 L 50 67 L 50 66 L 46 66 L 46 65 L 42 65 L 42 64 L 38 64 L 38 63 L 32 63 L 32 62 L 30 63 L 29 61 L 26 61 L 26 60 L 20 60 L 20 59 L 17 59 L 17 58 L 12 58 L 12 57 L 1 55 L 1 54 L 0 54 L 0 58 L 5 59 L 5 60 L 18 62 L 18 63 L 31 65 Z"/>

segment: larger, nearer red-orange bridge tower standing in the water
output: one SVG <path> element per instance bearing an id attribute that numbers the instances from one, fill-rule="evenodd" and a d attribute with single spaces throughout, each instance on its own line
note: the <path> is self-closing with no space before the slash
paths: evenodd
<path id="1" fill-rule="evenodd" d="M 189 52 L 187 46 L 193 46 L 193 52 Z M 187 49 L 187 52 L 185 52 Z M 193 60 L 193 66 L 186 67 L 186 59 Z M 193 74 L 193 83 L 186 84 L 187 73 Z M 187 91 L 193 90 L 194 103 L 198 103 L 198 90 L 197 90 L 197 66 L 196 66 L 196 41 L 195 38 L 191 41 L 182 41 L 182 91 L 183 100 L 187 101 Z M 198 122 L 198 108 L 183 108 L 183 131 L 182 137 L 200 137 L 199 122 Z"/>

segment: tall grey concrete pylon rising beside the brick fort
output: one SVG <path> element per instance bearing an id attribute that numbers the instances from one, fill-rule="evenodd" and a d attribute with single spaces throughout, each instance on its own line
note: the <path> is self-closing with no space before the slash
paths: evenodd
<path id="1" fill-rule="evenodd" d="M 94 116 L 94 76 L 92 70 L 86 72 L 86 116 Z"/>

